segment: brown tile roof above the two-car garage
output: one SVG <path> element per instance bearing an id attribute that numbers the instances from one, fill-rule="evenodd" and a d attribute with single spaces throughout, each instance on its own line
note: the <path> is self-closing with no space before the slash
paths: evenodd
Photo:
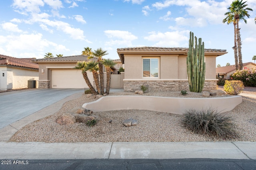
<path id="1" fill-rule="evenodd" d="M 88 56 L 86 55 L 74 55 L 74 56 L 65 56 L 65 57 L 52 57 L 52 58 L 46 58 L 46 59 L 35 59 L 34 63 L 48 63 L 48 62 L 77 62 L 77 61 L 87 61 Z M 96 57 L 92 58 L 93 60 L 97 60 Z"/>

